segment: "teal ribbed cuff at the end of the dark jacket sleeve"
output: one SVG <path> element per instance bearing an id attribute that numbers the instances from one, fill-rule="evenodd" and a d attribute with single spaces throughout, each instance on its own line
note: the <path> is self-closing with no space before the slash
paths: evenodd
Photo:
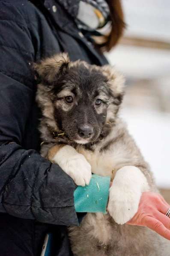
<path id="1" fill-rule="evenodd" d="M 76 212 L 102 212 L 106 214 L 110 177 L 92 175 L 89 185 L 78 186 L 74 193 Z"/>

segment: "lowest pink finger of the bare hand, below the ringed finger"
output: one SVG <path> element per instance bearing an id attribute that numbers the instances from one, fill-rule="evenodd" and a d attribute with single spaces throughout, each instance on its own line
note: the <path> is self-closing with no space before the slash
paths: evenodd
<path id="1" fill-rule="evenodd" d="M 145 218 L 145 224 L 148 228 L 154 230 L 159 235 L 163 236 L 170 240 L 170 230 L 167 229 L 159 220 L 156 220 L 153 217 L 147 216 Z"/>

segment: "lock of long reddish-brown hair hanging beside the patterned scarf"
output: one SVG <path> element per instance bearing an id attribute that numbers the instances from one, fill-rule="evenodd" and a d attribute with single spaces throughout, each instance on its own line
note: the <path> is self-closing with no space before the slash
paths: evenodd
<path id="1" fill-rule="evenodd" d="M 124 15 L 121 0 L 106 0 L 110 8 L 111 32 L 108 36 L 104 36 L 104 42 L 100 46 L 104 51 L 116 45 L 125 29 Z"/>

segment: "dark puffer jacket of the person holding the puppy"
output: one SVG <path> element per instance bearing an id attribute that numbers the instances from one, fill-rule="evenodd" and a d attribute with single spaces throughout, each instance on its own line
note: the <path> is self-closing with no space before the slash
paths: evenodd
<path id="1" fill-rule="evenodd" d="M 40 111 L 31 65 L 61 51 L 71 60 L 107 61 L 57 0 L 35 2 L 0 0 L 0 212 L 77 224 L 74 182 L 38 153 Z"/>

